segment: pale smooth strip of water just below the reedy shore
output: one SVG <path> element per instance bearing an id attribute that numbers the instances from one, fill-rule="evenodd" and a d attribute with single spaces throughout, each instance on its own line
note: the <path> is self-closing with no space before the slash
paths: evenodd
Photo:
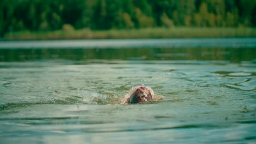
<path id="1" fill-rule="evenodd" d="M 173 47 L 256 47 L 256 38 L 177 38 L 177 39 L 102 39 L 2 41 L 1 49 L 15 48 L 173 48 Z"/>

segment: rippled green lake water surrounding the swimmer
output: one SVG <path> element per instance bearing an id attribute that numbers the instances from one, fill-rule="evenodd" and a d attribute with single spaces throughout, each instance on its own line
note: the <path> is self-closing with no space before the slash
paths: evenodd
<path id="1" fill-rule="evenodd" d="M 256 143 L 256 38 L 1 41 L 0 82 L 0 143 Z"/>

